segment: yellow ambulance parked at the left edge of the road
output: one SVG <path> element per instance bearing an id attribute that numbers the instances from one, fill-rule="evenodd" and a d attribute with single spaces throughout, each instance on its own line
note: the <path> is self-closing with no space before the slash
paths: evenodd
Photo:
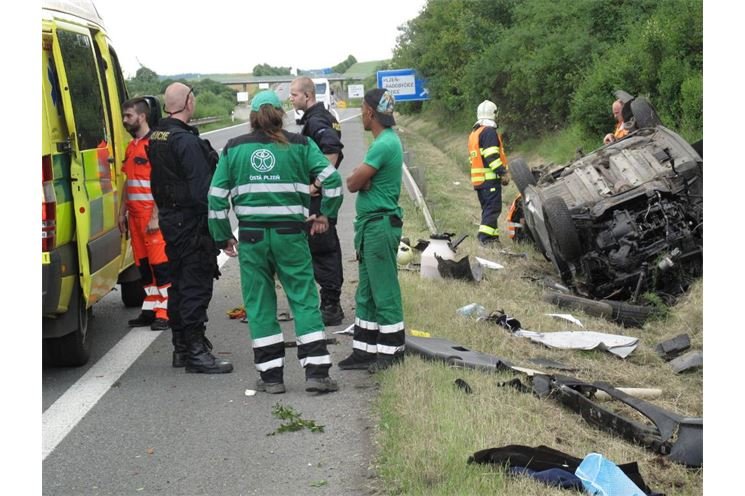
<path id="1" fill-rule="evenodd" d="M 127 90 L 116 52 L 88 0 L 42 1 L 41 252 L 45 364 L 88 361 L 90 308 L 121 284 L 144 297 L 117 227 Z"/>

